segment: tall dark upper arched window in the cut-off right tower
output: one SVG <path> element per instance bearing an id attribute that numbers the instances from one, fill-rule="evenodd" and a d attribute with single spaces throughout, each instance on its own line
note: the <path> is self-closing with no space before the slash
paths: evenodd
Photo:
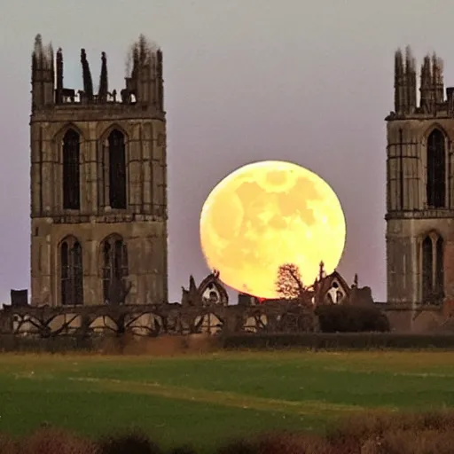
<path id="1" fill-rule="evenodd" d="M 446 154 L 440 129 L 434 129 L 427 139 L 427 205 L 446 206 Z"/>

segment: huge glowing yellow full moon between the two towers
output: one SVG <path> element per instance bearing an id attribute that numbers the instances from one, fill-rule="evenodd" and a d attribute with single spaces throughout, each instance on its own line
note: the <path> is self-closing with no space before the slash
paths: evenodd
<path id="1" fill-rule="evenodd" d="M 345 217 L 333 189 L 307 168 L 254 162 L 215 186 L 200 215 L 200 244 L 211 270 L 239 292 L 278 298 L 278 268 L 294 263 L 305 286 L 319 263 L 333 272 L 345 246 Z"/>

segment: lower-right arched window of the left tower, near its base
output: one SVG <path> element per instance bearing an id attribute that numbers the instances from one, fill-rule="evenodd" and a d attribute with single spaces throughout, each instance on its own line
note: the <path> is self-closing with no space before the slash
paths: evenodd
<path id="1" fill-rule="evenodd" d="M 112 235 L 101 243 L 104 301 L 121 304 L 128 294 L 128 249 L 120 236 Z"/>

